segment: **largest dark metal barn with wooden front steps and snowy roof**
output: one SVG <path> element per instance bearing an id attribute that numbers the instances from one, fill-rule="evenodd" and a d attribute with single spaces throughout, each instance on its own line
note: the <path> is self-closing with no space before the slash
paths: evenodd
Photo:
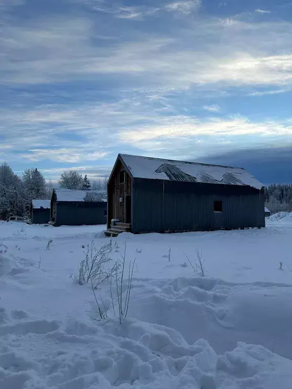
<path id="1" fill-rule="evenodd" d="M 107 205 L 107 235 L 265 226 L 263 184 L 231 166 L 119 154 Z"/>

